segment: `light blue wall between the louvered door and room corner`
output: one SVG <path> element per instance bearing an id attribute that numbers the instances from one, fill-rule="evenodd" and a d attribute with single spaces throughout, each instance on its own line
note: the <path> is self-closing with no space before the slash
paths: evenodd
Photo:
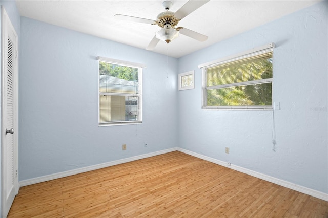
<path id="1" fill-rule="evenodd" d="M 176 58 L 167 78 L 165 55 L 26 17 L 20 34 L 20 181 L 177 146 Z M 97 56 L 146 64 L 142 124 L 98 127 Z"/>

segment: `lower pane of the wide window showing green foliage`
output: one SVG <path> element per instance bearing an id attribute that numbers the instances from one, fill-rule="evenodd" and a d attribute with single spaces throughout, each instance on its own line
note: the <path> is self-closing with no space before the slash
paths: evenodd
<path id="1" fill-rule="evenodd" d="M 207 106 L 270 106 L 272 83 L 207 90 Z"/>

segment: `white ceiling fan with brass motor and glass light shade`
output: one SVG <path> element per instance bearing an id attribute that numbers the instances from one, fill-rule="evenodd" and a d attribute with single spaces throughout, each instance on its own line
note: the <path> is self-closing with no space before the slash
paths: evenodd
<path id="1" fill-rule="evenodd" d="M 179 33 L 194 38 L 198 41 L 205 41 L 208 39 L 208 36 L 197 33 L 195 31 L 189 30 L 184 27 L 175 27 L 179 21 L 186 17 L 188 14 L 195 11 L 197 8 L 201 7 L 205 3 L 209 2 L 210 0 L 189 0 L 185 5 L 183 5 L 179 10 L 175 13 L 169 11 L 170 7 L 172 6 L 172 2 L 164 1 L 162 6 L 165 8 L 165 12 L 162 12 L 157 15 L 157 20 L 152 19 L 145 19 L 140 17 L 122 15 L 122 14 L 115 14 L 114 17 L 120 20 L 127 20 L 127 21 L 134 21 L 138 23 L 144 24 L 151 24 L 151 25 L 158 25 L 161 27 L 161 30 L 156 32 L 153 39 L 150 41 L 149 45 L 147 46 L 147 50 L 153 50 L 157 43 L 160 40 L 165 41 L 166 43 L 171 42 L 173 39 L 178 37 Z"/>

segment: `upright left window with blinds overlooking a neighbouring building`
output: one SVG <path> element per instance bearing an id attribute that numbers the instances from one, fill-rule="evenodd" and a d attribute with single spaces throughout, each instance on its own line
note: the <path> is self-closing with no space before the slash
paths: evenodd
<path id="1" fill-rule="evenodd" d="M 141 64 L 98 57 L 99 125 L 142 122 Z"/>

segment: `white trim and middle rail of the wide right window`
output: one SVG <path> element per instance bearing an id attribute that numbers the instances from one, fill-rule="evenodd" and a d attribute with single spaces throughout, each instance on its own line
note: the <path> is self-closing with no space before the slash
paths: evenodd
<path id="1" fill-rule="evenodd" d="M 206 78 L 205 78 L 205 68 L 210 68 L 214 66 L 218 66 L 224 63 L 229 63 L 241 59 L 245 59 L 248 57 L 256 56 L 261 53 L 265 53 L 268 51 L 273 51 L 275 48 L 275 43 L 269 43 L 267 45 L 257 47 L 245 52 L 241 52 L 235 55 L 231 55 L 228 57 L 224 57 L 221 59 L 213 60 L 210 62 L 206 62 L 203 64 L 199 64 L 198 68 L 202 69 L 202 110 L 273 110 L 273 104 L 268 106 L 260 106 L 260 105 L 247 105 L 247 106 L 207 106 L 207 96 L 206 96 Z M 264 84 L 264 83 L 272 83 L 273 84 L 273 78 L 268 79 L 261 79 L 261 80 L 254 80 L 254 81 L 247 81 L 247 82 L 239 82 L 239 83 L 231 83 L 227 85 L 216 85 L 211 86 L 211 89 L 218 89 L 218 88 L 226 88 L 226 87 L 233 87 L 233 86 L 241 86 L 241 85 L 251 85 L 251 84 Z M 273 99 L 272 99 L 273 102 Z"/>

